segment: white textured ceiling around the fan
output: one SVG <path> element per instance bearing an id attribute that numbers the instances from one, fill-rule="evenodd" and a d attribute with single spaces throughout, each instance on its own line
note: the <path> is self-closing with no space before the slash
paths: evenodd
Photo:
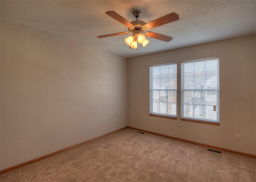
<path id="1" fill-rule="evenodd" d="M 126 58 L 220 41 L 256 33 L 255 0 L 1 0 L 1 19 L 63 39 Z M 128 49 L 118 35 L 99 39 L 98 35 L 127 31 L 122 23 L 106 15 L 115 11 L 129 22 L 140 10 L 146 23 L 175 12 L 180 20 L 150 29 L 173 37 L 166 43 L 148 37 L 150 43 Z"/>

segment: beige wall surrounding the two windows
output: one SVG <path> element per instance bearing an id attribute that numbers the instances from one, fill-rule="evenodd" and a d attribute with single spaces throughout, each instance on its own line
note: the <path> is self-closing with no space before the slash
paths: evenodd
<path id="1" fill-rule="evenodd" d="M 128 59 L 129 126 L 255 155 L 255 49 L 252 35 Z M 220 126 L 180 121 L 180 63 L 213 57 L 220 58 Z M 148 115 L 149 67 L 166 63 L 178 68 L 177 120 Z"/>

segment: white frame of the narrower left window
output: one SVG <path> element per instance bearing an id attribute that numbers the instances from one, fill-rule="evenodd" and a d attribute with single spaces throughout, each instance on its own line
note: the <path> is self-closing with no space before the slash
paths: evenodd
<path id="1" fill-rule="evenodd" d="M 153 74 L 152 74 L 152 68 L 153 67 L 162 67 L 162 66 L 166 66 L 166 65 L 176 65 L 176 89 L 168 89 L 168 88 L 160 88 L 160 89 L 153 89 Z M 171 80 L 170 80 L 171 81 Z M 169 78 L 168 78 L 168 83 L 170 82 Z M 172 91 L 172 93 L 176 92 L 176 101 L 175 101 L 175 107 L 176 107 L 176 113 L 175 114 L 164 114 L 164 113 L 160 113 L 160 112 L 153 112 L 153 105 L 154 105 L 154 99 L 153 99 L 153 92 L 154 91 Z M 160 98 L 160 96 L 159 96 Z M 167 98 L 168 100 L 168 98 Z M 160 103 L 161 104 L 161 103 Z M 167 106 L 168 107 L 168 106 Z M 168 113 L 168 112 L 167 112 Z M 164 65 L 154 65 L 154 66 L 150 66 L 150 114 L 151 115 L 162 115 L 162 116 L 166 116 L 166 117 L 173 117 L 173 118 L 177 118 L 177 63 L 169 63 L 169 64 L 164 64 Z"/>

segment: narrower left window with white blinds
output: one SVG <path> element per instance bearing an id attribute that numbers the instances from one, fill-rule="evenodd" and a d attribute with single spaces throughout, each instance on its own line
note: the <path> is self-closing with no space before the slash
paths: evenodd
<path id="1" fill-rule="evenodd" d="M 150 67 L 150 114 L 176 117 L 177 64 Z"/>

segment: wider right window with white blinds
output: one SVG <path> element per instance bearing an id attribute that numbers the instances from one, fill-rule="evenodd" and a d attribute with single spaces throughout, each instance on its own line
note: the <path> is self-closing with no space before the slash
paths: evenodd
<path id="1" fill-rule="evenodd" d="M 219 59 L 182 63 L 182 118 L 219 122 Z"/>

